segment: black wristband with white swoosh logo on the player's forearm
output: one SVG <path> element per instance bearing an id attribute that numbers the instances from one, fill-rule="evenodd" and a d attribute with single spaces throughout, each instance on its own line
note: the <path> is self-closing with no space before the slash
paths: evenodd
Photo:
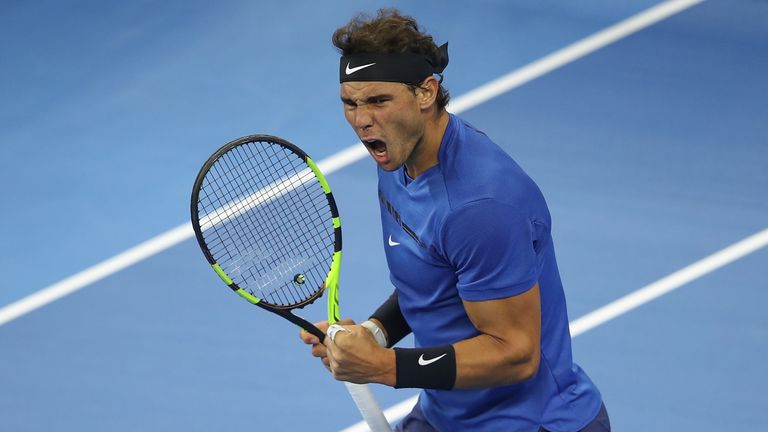
<path id="1" fill-rule="evenodd" d="M 453 345 L 395 348 L 395 388 L 450 390 L 456 384 Z"/>

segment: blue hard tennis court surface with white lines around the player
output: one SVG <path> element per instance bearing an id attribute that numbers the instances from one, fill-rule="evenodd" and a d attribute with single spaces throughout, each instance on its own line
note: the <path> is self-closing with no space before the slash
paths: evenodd
<path id="1" fill-rule="evenodd" d="M 354 146 L 330 35 L 387 5 L 0 4 L 0 430 L 358 423 L 297 330 L 210 270 L 189 196 L 239 136 L 317 161 Z M 544 192 L 574 358 L 614 430 L 768 428 L 768 3 L 397 6 L 450 42 L 449 108 Z M 375 166 L 328 180 L 340 306 L 362 320 L 391 292 Z M 416 394 L 373 387 L 383 408 Z"/>

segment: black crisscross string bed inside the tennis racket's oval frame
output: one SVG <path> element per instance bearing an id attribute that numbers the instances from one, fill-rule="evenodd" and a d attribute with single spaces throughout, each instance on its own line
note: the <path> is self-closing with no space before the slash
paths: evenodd
<path id="1" fill-rule="evenodd" d="M 252 142 L 225 153 L 206 174 L 198 214 L 211 254 L 257 297 L 296 305 L 325 281 L 330 209 L 314 173 L 291 151 Z"/>

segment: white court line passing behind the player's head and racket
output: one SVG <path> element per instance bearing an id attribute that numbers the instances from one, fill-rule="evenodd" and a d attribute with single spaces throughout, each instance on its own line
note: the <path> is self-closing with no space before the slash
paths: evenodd
<path id="1" fill-rule="evenodd" d="M 473 108 L 701 1 L 703 0 L 669 1 L 647 9 L 456 98 L 451 103 L 450 110 L 458 114 Z M 366 153 L 365 148 L 359 145 L 359 143 L 355 143 L 347 149 L 322 160 L 318 163 L 318 167 L 324 173 L 330 174 L 337 169 L 362 159 Z M 193 235 L 191 225 L 184 223 L 123 253 L 4 306 L 0 308 L 0 325 L 162 252 Z"/>

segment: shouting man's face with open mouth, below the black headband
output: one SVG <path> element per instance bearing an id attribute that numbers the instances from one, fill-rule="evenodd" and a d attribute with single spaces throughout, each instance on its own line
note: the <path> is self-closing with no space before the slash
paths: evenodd
<path id="1" fill-rule="evenodd" d="M 345 82 L 341 84 L 341 100 L 344 116 L 382 169 L 394 171 L 416 162 L 425 122 L 416 95 L 408 86 Z"/>

